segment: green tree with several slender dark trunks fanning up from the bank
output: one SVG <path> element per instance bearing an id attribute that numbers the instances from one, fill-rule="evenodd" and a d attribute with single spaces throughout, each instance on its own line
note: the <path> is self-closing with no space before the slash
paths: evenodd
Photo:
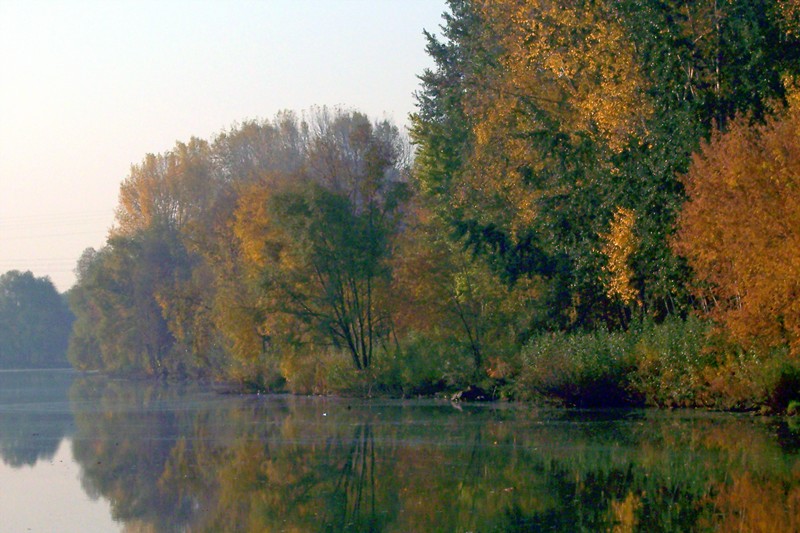
<path id="1" fill-rule="evenodd" d="M 265 272 L 267 292 L 286 297 L 279 310 L 298 317 L 334 346 L 348 351 L 357 369 L 370 366 L 386 316 L 376 308 L 376 285 L 386 281 L 381 264 L 386 234 L 358 216 L 341 195 L 322 187 L 272 199 L 283 253 L 278 269 Z"/>

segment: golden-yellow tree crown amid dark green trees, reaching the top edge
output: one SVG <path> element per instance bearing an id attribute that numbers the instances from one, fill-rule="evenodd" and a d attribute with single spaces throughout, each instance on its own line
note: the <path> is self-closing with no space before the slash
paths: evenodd
<path id="1" fill-rule="evenodd" d="M 503 212 L 505 225 L 518 230 L 536 219 L 542 195 L 568 192 L 532 183 L 531 176 L 561 166 L 552 147 L 532 138 L 555 129 L 570 143 L 591 139 L 619 152 L 643 131 L 651 105 L 614 2 L 479 5 L 490 29 L 484 46 L 499 53 L 482 74 L 483 90 L 467 95 L 472 171 L 455 200 L 466 209 Z"/>

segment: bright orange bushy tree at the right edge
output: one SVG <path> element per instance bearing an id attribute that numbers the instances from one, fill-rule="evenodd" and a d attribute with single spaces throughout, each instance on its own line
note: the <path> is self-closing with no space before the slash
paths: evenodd
<path id="1" fill-rule="evenodd" d="M 740 117 L 694 156 L 677 250 L 698 294 L 747 347 L 800 353 L 800 106 Z"/>

